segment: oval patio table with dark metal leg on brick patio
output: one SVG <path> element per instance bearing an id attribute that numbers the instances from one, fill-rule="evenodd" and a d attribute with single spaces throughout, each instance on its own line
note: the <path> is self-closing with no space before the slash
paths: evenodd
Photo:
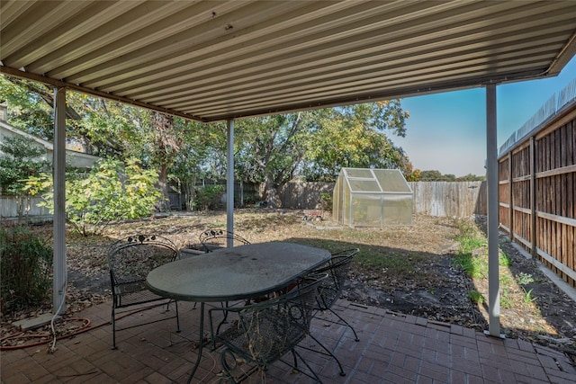
<path id="1" fill-rule="evenodd" d="M 202 358 L 204 303 L 275 292 L 329 259 L 326 249 L 293 243 L 257 243 L 218 249 L 166 263 L 149 272 L 146 283 L 152 292 L 169 299 L 201 303 L 199 352 L 188 382 Z"/>

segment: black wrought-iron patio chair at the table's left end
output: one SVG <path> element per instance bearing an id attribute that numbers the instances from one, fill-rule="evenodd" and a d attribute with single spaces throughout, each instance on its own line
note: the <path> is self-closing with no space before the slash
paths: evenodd
<path id="1" fill-rule="evenodd" d="M 118 312 L 119 308 L 128 308 L 143 304 L 166 300 L 166 312 L 170 310 L 173 300 L 163 298 L 152 293 L 146 287 L 148 272 L 154 268 L 175 261 L 180 258 L 178 249 L 170 240 L 156 235 L 136 235 L 124 237 L 108 248 L 108 267 L 110 281 L 112 282 L 112 349 L 117 349 L 116 332 L 135 326 L 144 326 L 170 318 L 176 319 L 176 332 L 180 332 L 180 319 L 178 317 L 178 304 L 175 301 L 175 316 L 165 317 L 140 323 L 135 326 L 117 328 L 116 323 L 133 311 Z M 153 306 L 153 307 L 157 307 Z M 149 307 L 141 308 L 146 309 Z M 138 311 L 139 309 L 136 309 Z M 117 315 L 123 314 L 121 317 Z"/>

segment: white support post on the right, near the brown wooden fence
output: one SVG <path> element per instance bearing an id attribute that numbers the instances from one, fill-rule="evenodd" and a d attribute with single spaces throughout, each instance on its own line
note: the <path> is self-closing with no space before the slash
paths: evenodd
<path id="1" fill-rule="evenodd" d="M 486 86 L 486 158 L 488 181 L 488 335 L 500 335 L 500 266 L 498 263 L 498 144 L 496 85 Z M 511 209 L 511 207 L 510 207 Z"/>

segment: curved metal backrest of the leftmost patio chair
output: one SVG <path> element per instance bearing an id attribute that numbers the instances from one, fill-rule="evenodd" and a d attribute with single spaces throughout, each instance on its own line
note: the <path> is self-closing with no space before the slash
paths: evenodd
<path id="1" fill-rule="evenodd" d="M 166 237 L 135 235 L 124 237 L 108 248 L 108 266 L 112 286 L 146 281 L 148 272 L 175 261 L 180 253 Z"/>

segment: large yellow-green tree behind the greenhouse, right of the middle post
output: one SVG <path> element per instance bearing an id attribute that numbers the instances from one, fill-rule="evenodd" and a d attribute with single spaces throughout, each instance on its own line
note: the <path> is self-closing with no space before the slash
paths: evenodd
<path id="1" fill-rule="evenodd" d="M 266 185 L 268 206 L 296 173 L 331 181 L 342 166 L 410 169 L 401 147 L 383 130 L 406 133 L 400 100 L 247 119 L 238 124 L 237 170 Z"/>

